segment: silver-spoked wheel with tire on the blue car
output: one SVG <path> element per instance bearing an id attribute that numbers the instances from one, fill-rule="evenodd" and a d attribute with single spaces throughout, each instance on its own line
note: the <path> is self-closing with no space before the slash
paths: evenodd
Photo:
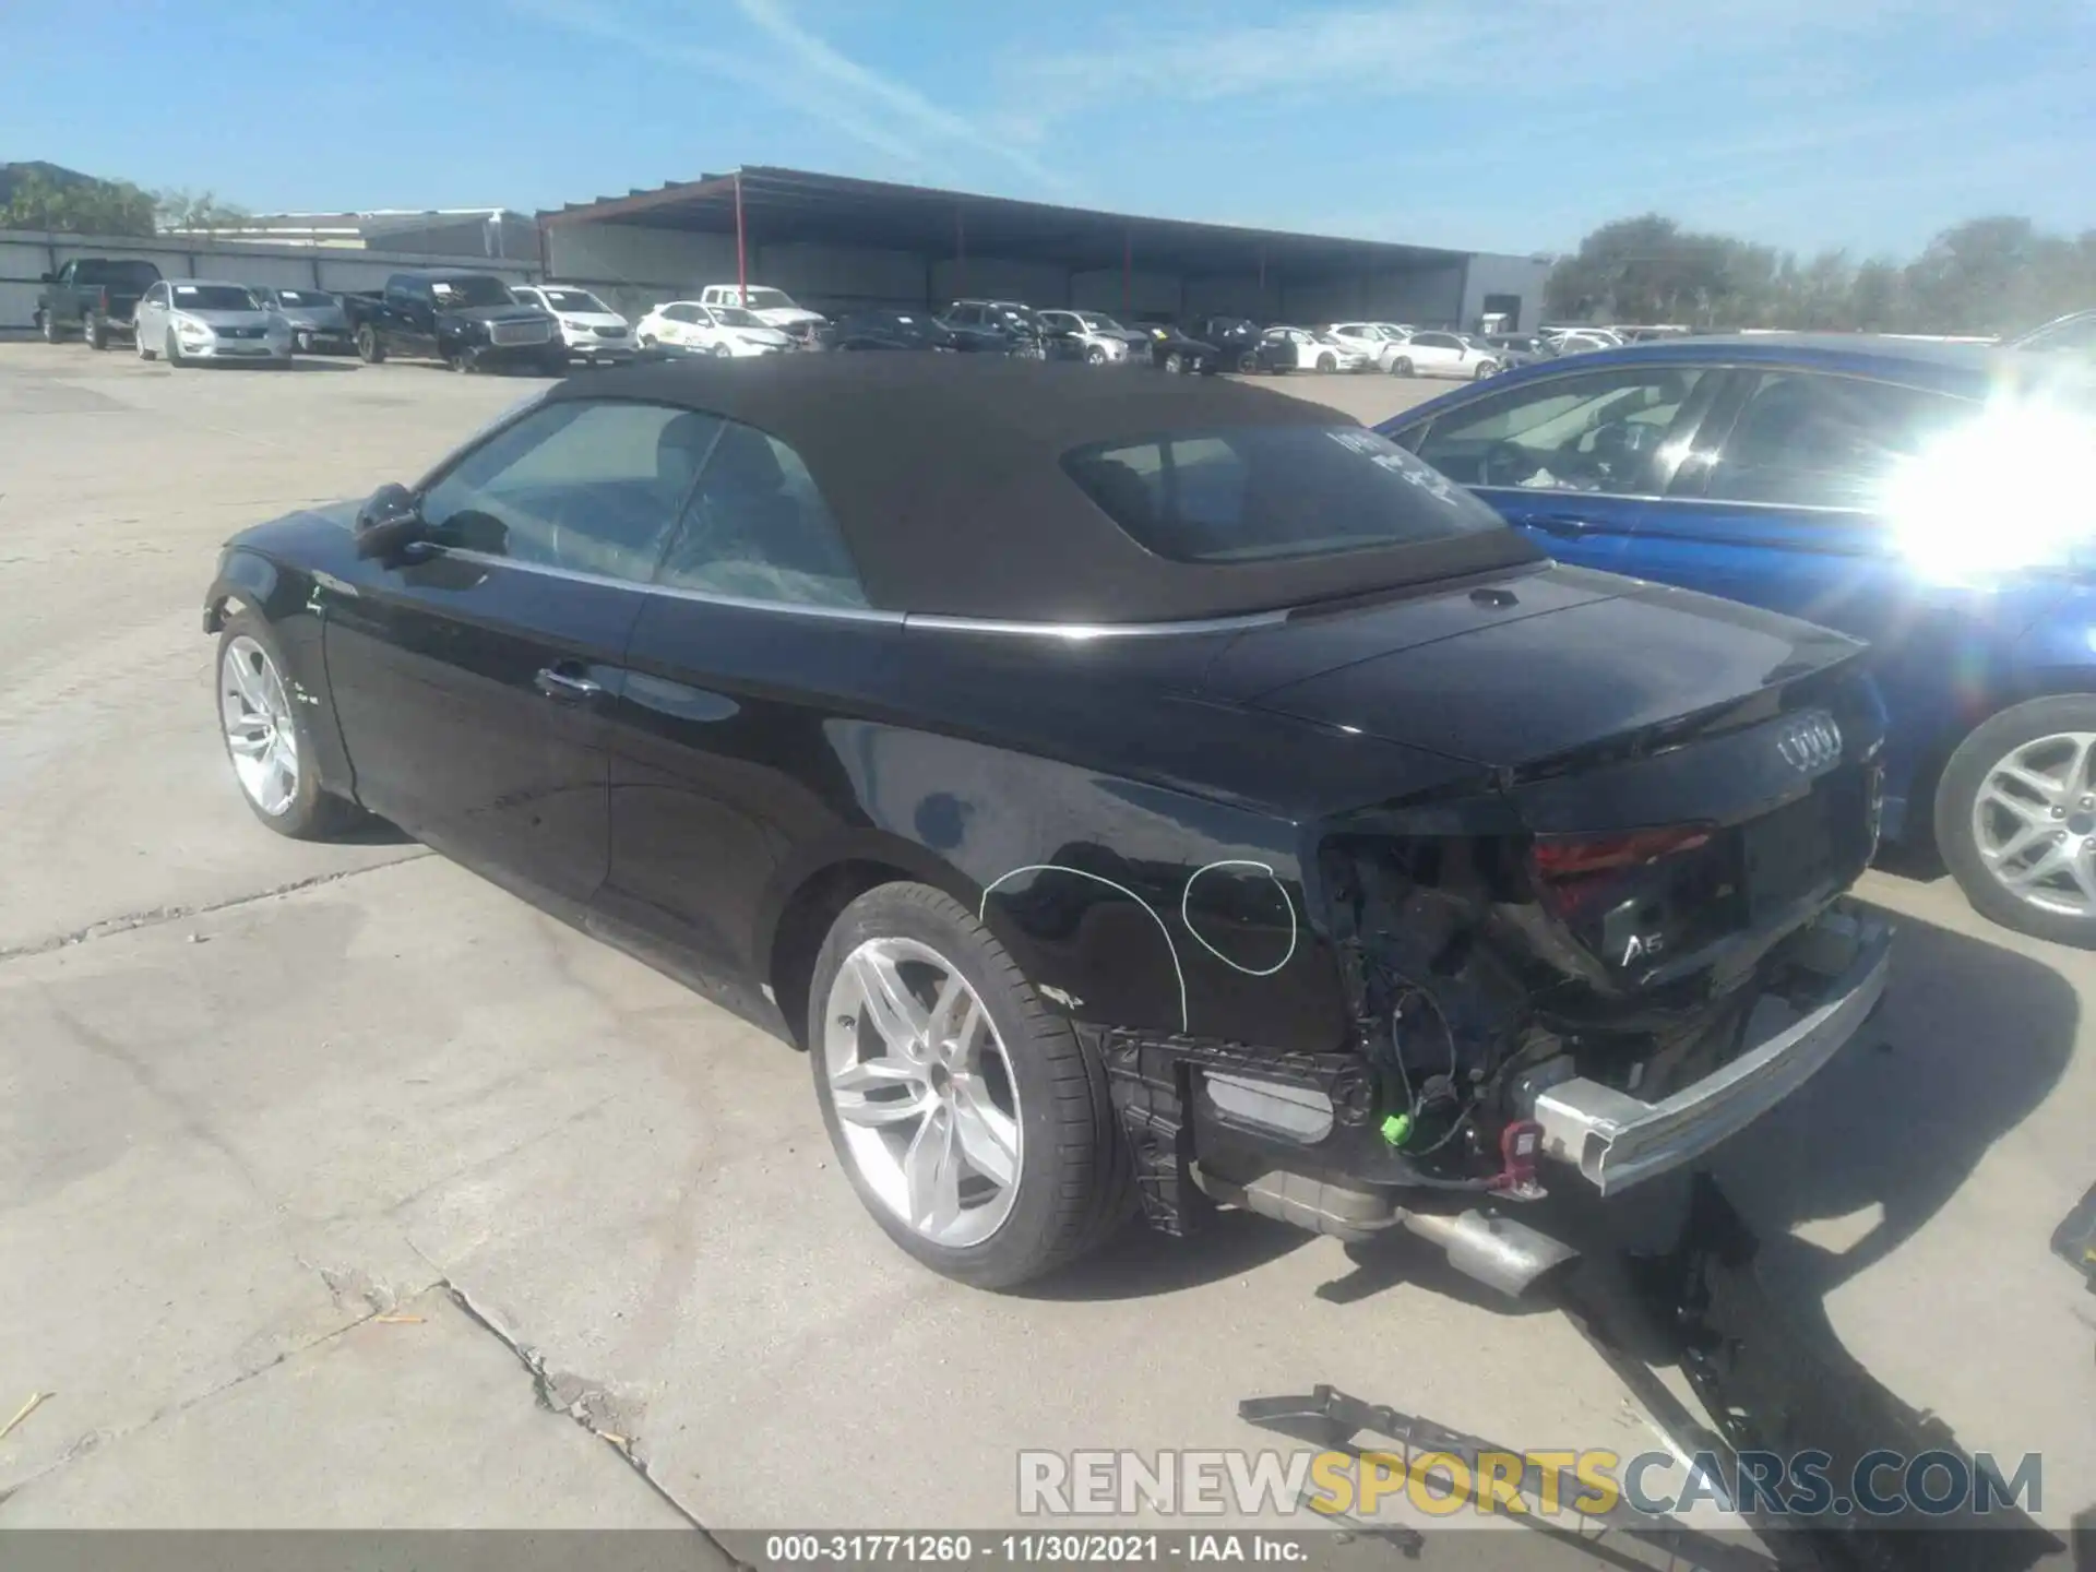
<path id="1" fill-rule="evenodd" d="M 1935 830 L 1974 912 L 2096 949 L 2096 694 L 2033 698 L 1977 725 L 1943 767 Z"/>

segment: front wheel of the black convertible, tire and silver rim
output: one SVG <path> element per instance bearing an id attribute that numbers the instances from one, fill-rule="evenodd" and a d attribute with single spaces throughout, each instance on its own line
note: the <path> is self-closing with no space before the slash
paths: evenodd
<path id="1" fill-rule="evenodd" d="M 270 625 L 241 608 L 218 635 L 218 729 L 247 811 L 291 840 L 327 840 L 363 809 L 321 790 L 306 704 Z"/>

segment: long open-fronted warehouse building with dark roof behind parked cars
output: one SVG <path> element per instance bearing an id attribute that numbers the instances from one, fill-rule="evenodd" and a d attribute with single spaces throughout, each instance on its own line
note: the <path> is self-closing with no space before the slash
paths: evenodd
<path id="1" fill-rule="evenodd" d="M 539 214 L 539 264 L 623 310 L 746 281 L 828 314 L 956 298 L 1128 321 L 1534 327 L 1549 258 L 1138 218 L 742 168 Z"/>

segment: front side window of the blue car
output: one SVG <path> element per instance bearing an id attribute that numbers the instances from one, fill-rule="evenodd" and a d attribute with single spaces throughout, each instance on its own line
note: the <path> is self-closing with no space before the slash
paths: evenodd
<path id="1" fill-rule="evenodd" d="M 1421 333 L 1413 342 L 1440 337 Z M 1700 367 L 1549 377 L 1440 415 L 1419 457 L 1465 486 L 1643 495 Z"/>

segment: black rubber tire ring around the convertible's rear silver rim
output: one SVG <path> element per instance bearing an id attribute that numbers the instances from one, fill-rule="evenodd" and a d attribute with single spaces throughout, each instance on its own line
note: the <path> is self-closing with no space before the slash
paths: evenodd
<path id="1" fill-rule="evenodd" d="M 828 998 L 845 958 L 864 941 L 880 937 L 916 939 L 958 966 L 983 1000 L 1012 1065 L 1021 1128 L 1019 1195 L 1010 1216 L 981 1245 L 952 1249 L 922 1239 L 889 1211 L 845 1155 L 824 1058 Z M 1067 1075 L 1073 1063 L 1084 1063 L 1092 1071 L 1098 1098 L 1105 1098 L 1105 1073 L 1090 1065 L 1088 1050 L 1069 1025 L 1046 1010 L 1004 945 L 954 897 L 929 885 L 880 885 L 847 905 L 815 956 L 807 1033 L 815 1102 L 838 1165 L 868 1214 L 903 1251 L 945 1276 L 983 1289 L 1017 1287 L 1054 1270 L 1075 1253 L 1067 1197 L 1073 1184 L 1084 1182 L 1084 1170 L 1094 1172 L 1094 1184 L 1107 1184 L 1109 1170 L 1098 1161 L 1092 1121 L 1069 1119 L 1067 1102 L 1058 1094 L 1067 1082 L 1056 1071 Z M 1098 1113 L 1111 1117 L 1111 1111 L 1094 1107 L 1094 1119 Z M 1086 1128 L 1073 1128 L 1075 1123 Z"/>

